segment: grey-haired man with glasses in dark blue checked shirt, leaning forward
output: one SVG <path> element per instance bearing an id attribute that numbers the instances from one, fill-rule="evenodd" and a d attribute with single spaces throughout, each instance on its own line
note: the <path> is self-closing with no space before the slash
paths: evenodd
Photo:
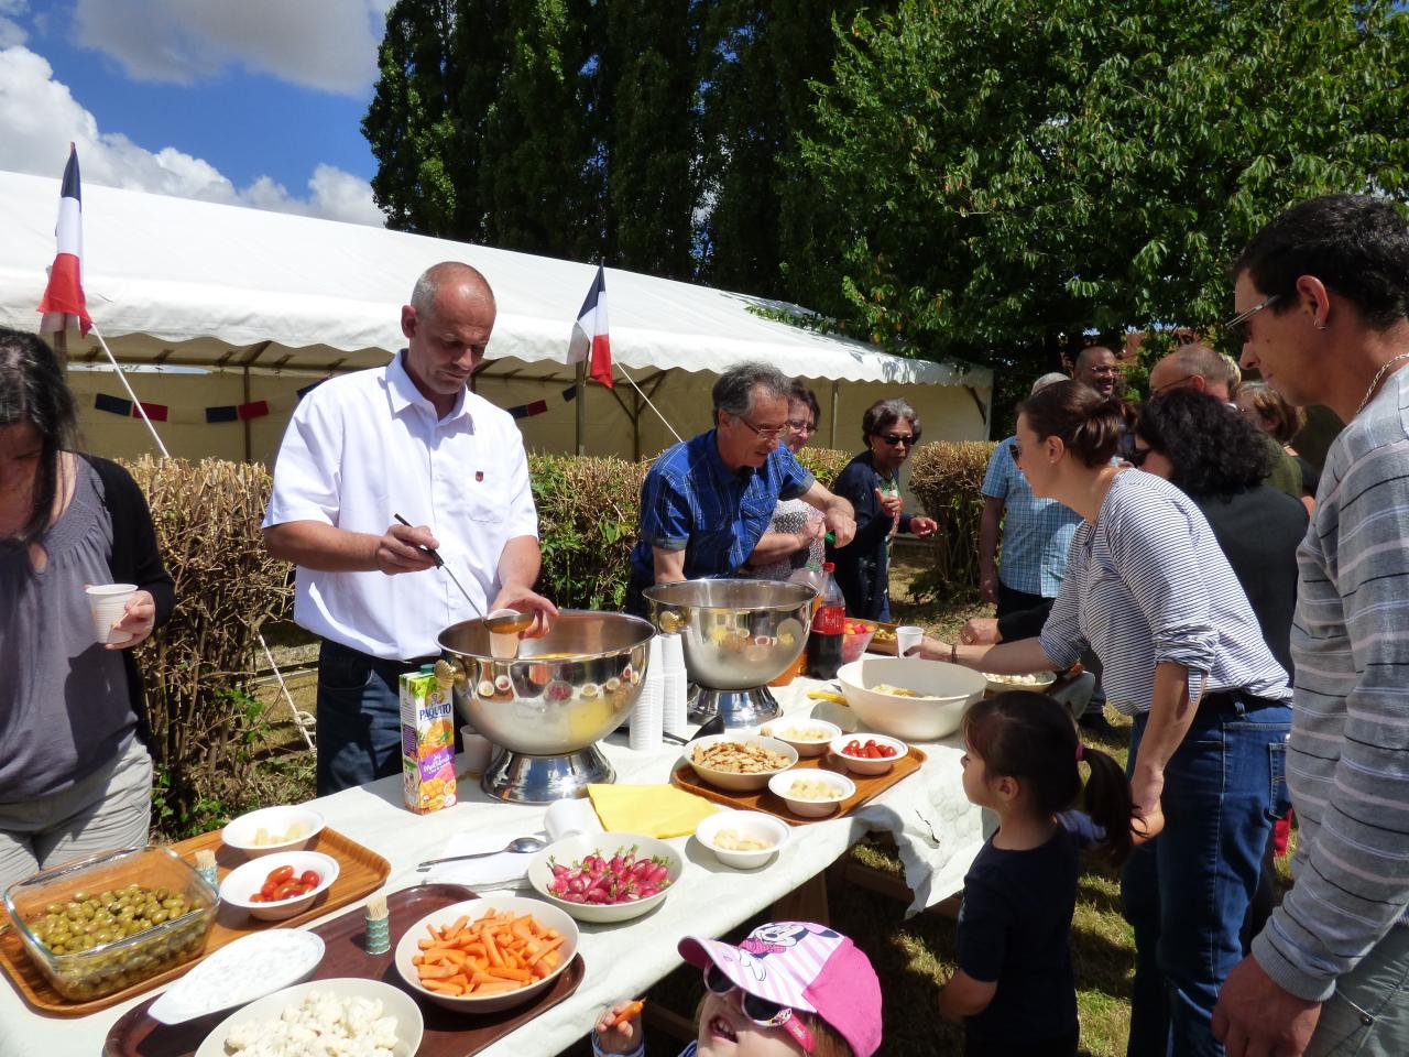
<path id="1" fill-rule="evenodd" d="M 779 499 L 821 512 L 840 543 L 855 534 L 851 503 L 823 488 L 783 444 L 792 379 L 769 364 L 730 368 L 714 383 L 714 428 L 661 452 L 641 485 L 626 610 L 647 616 L 654 583 L 734 576 L 768 530 Z"/>

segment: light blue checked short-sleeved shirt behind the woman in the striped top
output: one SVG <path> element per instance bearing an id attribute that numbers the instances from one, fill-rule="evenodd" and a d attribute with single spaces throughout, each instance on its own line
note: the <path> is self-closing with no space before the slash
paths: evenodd
<path id="1" fill-rule="evenodd" d="M 1081 514 L 1055 499 L 1038 499 L 1013 462 L 1009 445 L 999 443 L 988 459 L 982 492 L 1003 500 L 1003 554 L 998 578 L 1013 591 L 1057 598 L 1067 574 L 1067 552 Z"/>

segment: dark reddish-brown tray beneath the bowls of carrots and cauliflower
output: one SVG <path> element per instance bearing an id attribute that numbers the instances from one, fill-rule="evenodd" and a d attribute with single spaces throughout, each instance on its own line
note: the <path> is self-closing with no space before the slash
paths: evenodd
<path id="1" fill-rule="evenodd" d="M 386 954 L 368 954 L 364 950 L 365 919 L 361 910 L 349 910 L 331 922 L 324 922 L 310 930 L 321 936 L 327 944 L 323 961 L 318 963 L 311 978 L 368 977 L 399 987 L 411 995 L 426 1018 L 426 1036 L 421 1039 L 416 1057 L 469 1057 L 469 1054 L 479 1053 L 492 1041 L 533 1020 L 538 1013 L 558 1005 L 576 991 L 586 974 L 586 967 L 582 963 L 582 956 L 578 954 L 568 963 L 568 968 L 558 974 L 548 991 L 533 1002 L 499 1013 L 451 1012 L 411 994 L 393 964 L 392 956 L 396 951 L 396 941 L 433 910 L 473 898 L 475 894 L 461 885 L 418 885 L 393 892 L 386 898 L 392 926 L 392 950 Z M 190 1057 L 206 1040 L 206 1036 L 234 1012 L 225 1009 L 182 1025 L 162 1025 L 147 1015 L 147 1009 L 155 1001 L 152 998 L 130 1009 L 113 1025 L 103 1043 L 104 1057 Z"/>

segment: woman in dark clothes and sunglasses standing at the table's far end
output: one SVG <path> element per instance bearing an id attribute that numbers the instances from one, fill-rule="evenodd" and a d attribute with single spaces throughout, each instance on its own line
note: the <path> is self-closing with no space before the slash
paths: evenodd
<path id="1" fill-rule="evenodd" d="M 833 486 L 851 500 L 857 534 L 845 547 L 828 547 L 836 562 L 837 586 L 847 599 L 847 616 L 862 620 L 890 619 L 890 540 L 898 531 L 921 540 L 936 523 L 902 512 L 900 465 L 920 443 L 920 419 L 900 399 L 876 400 L 861 417 L 867 450 L 847 464 Z"/>

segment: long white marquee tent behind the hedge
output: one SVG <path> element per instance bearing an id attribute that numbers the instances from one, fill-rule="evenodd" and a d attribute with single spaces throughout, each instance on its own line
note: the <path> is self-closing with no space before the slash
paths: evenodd
<path id="1" fill-rule="evenodd" d="M 0 324 L 38 326 L 58 202 L 56 179 L 0 172 Z M 83 238 L 89 311 L 114 355 L 142 365 L 128 381 L 142 402 L 168 409 L 158 428 L 173 455 L 272 461 L 297 390 L 386 362 L 404 344 L 400 306 L 416 276 L 445 259 L 479 268 L 499 302 L 476 389 L 528 409 L 520 427 L 531 448 L 573 450 L 575 372 L 564 361 L 590 265 L 92 185 Z M 790 307 L 776 302 L 616 269 L 606 282 L 616 364 L 683 435 L 707 427 L 709 386 L 743 359 L 813 385 L 823 406 L 817 444 L 859 447 L 861 413 L 881 396 L 909 399 L 926 440 L 988 435 L 988 369 L 902 359 L 748 310 Z M 70 333 L 69 355 L 87 447 L 149 451 L 138 420 L 94 406 L 124 390 L 110 372 L 82 369 L 106 362 L 93 337 Z M 206 420 L 207 409 L 261 400 L 269 410 L 261 417 Z M 620 375 L 614 393 L 588 386 L 585 417 L 588 454 L 651 457 L 672 440 Z"/>

